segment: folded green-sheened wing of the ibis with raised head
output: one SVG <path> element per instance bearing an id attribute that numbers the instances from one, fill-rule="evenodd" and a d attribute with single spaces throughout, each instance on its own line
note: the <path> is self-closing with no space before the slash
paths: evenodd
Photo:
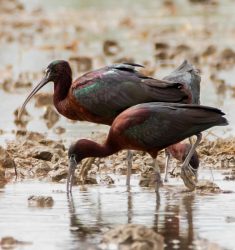
<path id="1" fill-rule="evenodd" d="M 184 102 L 181 84 L 146 77 L 136 64 L 117 64 L 85 74 L 73 84 L 80 105 L 102 117 L 115 117 L 144 102 Z"/>

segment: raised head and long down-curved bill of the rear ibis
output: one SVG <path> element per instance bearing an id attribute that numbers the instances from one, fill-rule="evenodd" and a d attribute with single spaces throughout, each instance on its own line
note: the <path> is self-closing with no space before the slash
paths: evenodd
<path id="1" fill-rule="evenodd" d="M 66 80 L 71 83 L 72 81 L 72 71 L 69 66 L 69 63 L 64 60 L 55 60 L 51 62 L 46 70 L 45 75 L 42 78 L 42 80 L 39 82 L 39 84 L 31 91 L 31 93 L 28 95 L 26 100 L 24 101 L 19 113 L 18 113 L 18 119 L 20 119 L 21 114 L 23 113 L 26 104 L 29 102 L 29 100 L 48 82 L 54 82 L 56 84 L 59 79 L 66 78 Z"/>

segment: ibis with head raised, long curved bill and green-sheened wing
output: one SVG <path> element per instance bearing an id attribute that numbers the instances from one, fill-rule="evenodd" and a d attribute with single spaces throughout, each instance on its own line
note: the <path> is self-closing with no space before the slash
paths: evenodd
<path id="1" fill-rule="evenodd" d="M 116 64 L 88 72 L 72 82 L 69 63 L 56 60 L 49 64 L 41 82 L 22 105 L 48 82 L 54 82 L 54 105 L 63 116 L 79 121 L 111 125 L 123 110 L 147 102 L 192 103 L 200 76 L 185 61 L 168 78 L 158 80 L 135 70 L 138 64 Z M 128 151 L 127 185 L 130 184 L 132 154 Z M 168 161 L 169 162 L 169 161 Z"/>

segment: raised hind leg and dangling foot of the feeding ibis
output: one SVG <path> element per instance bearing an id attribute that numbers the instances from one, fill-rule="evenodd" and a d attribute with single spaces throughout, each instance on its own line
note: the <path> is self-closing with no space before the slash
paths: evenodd
<path id="1" fill-rule="evenodd" d="M 202 139 L 202 134 L 199 133 L 196 135 L 197 136 L 197 140 L 196 142 L 191 146 L 191 149 L 187 155 L 187 157 L 185 158 L 183 165 L 181 167 L 181 178 L 184 181 L 184 184 L 186 187 L 188 187 L 190 190 L 194 190 L 196 187 L 196 182 L 197 182 L 197 171 L 195 171 L 195 169 L 193 169 L 189 162 L 196 150 L 196 147 L 198 146 L 198 144 L 200 143 L 201 139 Z"/>

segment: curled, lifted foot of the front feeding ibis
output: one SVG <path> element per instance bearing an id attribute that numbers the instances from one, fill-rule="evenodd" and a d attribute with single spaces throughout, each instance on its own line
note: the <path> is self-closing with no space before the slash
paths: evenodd
<path id="1" fill-rule="evenodd" d="M 189 165 L 183 166 L 181 169 L 180 177 L 184 181 L 184 185 L 193 191 L 197 185 L 197 169 L 194 169 Z"/>

